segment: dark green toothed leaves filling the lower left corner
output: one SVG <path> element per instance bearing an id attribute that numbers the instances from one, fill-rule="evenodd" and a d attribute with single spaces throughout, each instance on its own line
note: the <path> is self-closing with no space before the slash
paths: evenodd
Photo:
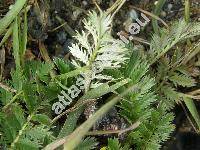
<path id="1" fill-rule="evenodd" d="M 50 66 L 52 64 L 31 62 L 25 65 L 25 70 L 12 71 L 9 83 L 17 91 L 22 91 L 15 101 L 12 101 L 13 93 L 1 89 L 1 144 L 5 147 L 11 145 L 13 149 L 39 149 L 46 141 L 49 143 L 54 139 L 49 131 L 50 116 L 45 113 L 51 99 L 42 92 L 50 84 Z M 45 90 L 50 93 L 52 89 Z"/>

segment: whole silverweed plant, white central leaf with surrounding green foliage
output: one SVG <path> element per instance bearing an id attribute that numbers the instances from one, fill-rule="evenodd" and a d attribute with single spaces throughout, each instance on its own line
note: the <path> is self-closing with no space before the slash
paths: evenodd
<path id="1" fill-rule="evenodd" d="M 199 36 L 200 24 L 179 21 L 162 29 L 153 34 L 147 52 L 141 53 L 138 46 L 111 35 L 114 16 L 124 2 L 117 0 L 106 11 L 98 7 L 98 13 L 88 13 L 83 21 L 84 31 L 77 32 L 76 43 L 70 47 L 73 58 L 69 61 L 55 58 L 24 63 L 27 30 L 19 33 L 27 29 L 26 11 L 22 11 L 24 23 L 18 19 L 23 13 L 15 16 L 10 28 L 16 67 L 11 78 L 0 84 L 2 149 L 161 148 L 174 130 L 171 108 L 175 102 L 184 100 L 191 108 L 186 99 L 193 97 L 175 88 L 195 85 L 195 79 L 186 73 L 187 68 L 181 67 L 194 53 L 179 55 L 174 46 Z M 169 51 L 176 55 L 171 58 Z M 58 95 L 69 90 L 80 77 L 84 81 L 82 91 L 70 99 L 62 113 L 55 114 L 52 106 L 58 102 Z M 64 105 L 64 101 L 60 103 Z M 113 107 L 125 127 L 96 130 L 94 126 Z M 197 113 L 190 111 L 198 125 Z M 99 145 L 97 135 L 104 137 L 106 146 Z"/>

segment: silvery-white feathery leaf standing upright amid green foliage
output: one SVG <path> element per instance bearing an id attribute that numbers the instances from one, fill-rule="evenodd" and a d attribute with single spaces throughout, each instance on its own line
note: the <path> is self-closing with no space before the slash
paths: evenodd
<path id="1" fill-rule="evenodd" d="M 95 81 L 113 80 L 102 71 L 120 68 L 128 59 L 128 49 L 125 44 L 111 36 L 111 22 L 110 15 L 89 12 L 88 19 L 83 20 L 85 31 L 77 32 L 75 38 L 78 43 L 70 47 L 70 52 L 75 57 L 72 64 L 77 68 L 86 65 L 90 68 L 88 71 L 93 72 L 85 74 L 85 80 L 87 80 L 85 83 L 93 84 L 93 79 Z M 101 68 L 101 73 L 98 72 L 98 68 Z"/>

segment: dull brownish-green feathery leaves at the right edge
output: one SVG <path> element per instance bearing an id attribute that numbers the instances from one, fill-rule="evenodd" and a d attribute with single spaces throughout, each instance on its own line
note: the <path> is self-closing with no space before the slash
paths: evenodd
<path id="1" fill-rule="evenodd" d="M 158 99 L 162 106 L 168 110 L 173 108 L 175 103 L 184 100 L 198 128 L 200 128 L 200 117 L 193 101 L 185 101 L 190 96 L 188 97 L 187 94 L 178 90 L 182 87 L 190 88 L 196 85 L 196 81 L 189 71 L 194 66 L 189 66 L 187 63 L 199 52 L 194 50 L 198 41 L 197 44 L 194 42 L 194 46 L 185 51 L 181 50 L 183 46 L 178 43 L 190 37 L 199 36 L 200 24 L 198 22 L 187 23 L 182 20 L 172 25 L 169 31 L 162 30 L 162 32 L 163 34 L 160 36 L 153 35 L 148 55 L 151 58 L 151 64 L 159 60 L 157 67 L 151 68 L 153 70 L 152 76 L 156 77 Z M 176 48 L 174 48 L 175 44 L 177 45 Z M 169 52 L 169 50 L 173 51 Z"/>

